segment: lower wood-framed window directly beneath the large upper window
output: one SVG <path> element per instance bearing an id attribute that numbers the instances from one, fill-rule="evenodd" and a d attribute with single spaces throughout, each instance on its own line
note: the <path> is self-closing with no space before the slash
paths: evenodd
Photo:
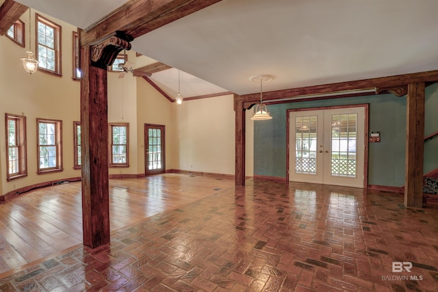
<path id="1" fill-rule="evenodd" d="M 38 118 L 38 174 L 62 171 L 62 121 Z"/>

